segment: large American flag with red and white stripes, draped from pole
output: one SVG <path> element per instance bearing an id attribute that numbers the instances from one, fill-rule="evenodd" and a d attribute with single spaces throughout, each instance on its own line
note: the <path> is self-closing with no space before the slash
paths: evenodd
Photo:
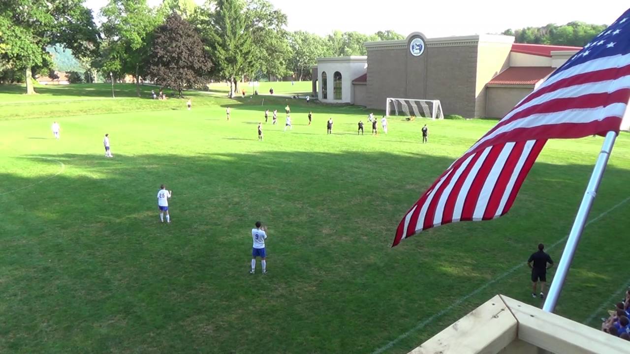
<path id="1" fill-rule="evenodd" d="M 451 164 L 401 220 L 392 247 L 432 227 L 507 213 L 547 139 L 618 133 L 628 100 L 630 9 Z"/>

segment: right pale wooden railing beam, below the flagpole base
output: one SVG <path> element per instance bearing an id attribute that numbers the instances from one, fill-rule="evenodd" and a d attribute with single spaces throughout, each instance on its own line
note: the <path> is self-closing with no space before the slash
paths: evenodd
<path id="1" fill-rule="evenodd" d="M 552 353 L 627 354 L 630 343 L 501 295 L 518 321 L 518 338 Z"/>

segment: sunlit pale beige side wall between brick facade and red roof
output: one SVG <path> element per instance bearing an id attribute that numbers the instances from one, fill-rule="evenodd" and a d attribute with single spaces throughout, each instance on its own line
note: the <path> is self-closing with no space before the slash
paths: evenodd
<path id="1" fill-rule="evenodd" d="M 468 117 L 486 117 L 486 84 L 510 66 L 510 50 L 514 37 L 498 35 L 479 36 L 477 46 L 477 72 L 474 115 Z M 551 64 L 551 63 L 550 63 Z"/>

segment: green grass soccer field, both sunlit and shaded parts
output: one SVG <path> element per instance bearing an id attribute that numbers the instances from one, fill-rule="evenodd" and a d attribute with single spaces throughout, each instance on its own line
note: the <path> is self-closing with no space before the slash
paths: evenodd
<path id="1" fill-rule="evenodd" d="M 539 242 L 557 263 L 603 139 L 549 142 L 505 217 L 391 249 L 406 210 L 496 122 L 392 117 L 389 134 L 357 136 L 369 111 L 353 106 L 188 93 L 188 111 L 110 89 L 0 86 L 1 353 L 406 353 L 494 294 L 542 305 L 515 266 Z M 260 142 L 265 108 L 278 125 Z M 557 307 L 592 326 L 630 282 L 629 156 L 623 133 Z M 248 273 L 256 220 L 266 275 L 260 261 Z"/>

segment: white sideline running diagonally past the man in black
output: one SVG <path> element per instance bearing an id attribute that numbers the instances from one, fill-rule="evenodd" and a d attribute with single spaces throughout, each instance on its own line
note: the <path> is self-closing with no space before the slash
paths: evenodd
<path id="1" fill-rule="evenodd" d="M 596 222 L 597 220 L 602 219 L 602 217 L 604 217 L 604 215 L 608 214 L 609 212 L 612 212 L 612 210 L 615 210 L 616 208 L 620 207 L 621 205 L 626 203 L 628 200 L 630 200 L 630 197 L 627 197 L 626 199 L 624 199 L 621 202 L 617 203 L 617 205 L 615 205 L 614 207 L 610 208 L 609 210 L 606 210 L 602 214 L 597 215 L 597 217 L 595 217 L 595 219 L 589 220 L 584 227 L 587 227 L 588 225 L 592 224 L 593 222 Z M 568 237 L 569 237 L 569 235 L 567 234 L 566 236 L 564 236 L 561 239 L 559 239 L 558 241 L 556 241 L 556 243 L 554 243 L 551 246 L 549 246 L 547 249 L 552 249 L 552 248 L 558 246 L 559 244 L 561 244 L 564 241 L 566 241 L 566 239 Z M 481 287 L 477 288 L 476 290 L 474 290 L 470 294 L 464 295 L 464 297 L 462 297 L 461 299 L 453 302 L 449 307 L 445 308 L 444 310 L 438 312 L 437 314 L 434 314 L 431 317 L 428 317 L 428 319 L 425 319 L 424 321 L 419 322 L 413 328 L 411 328 L 409 331 L 406 331 L 405 333 L 403 333 L 400 336 L 398 336 L 398 338 L 396 338 L 395 340 L 392 340 L 391 342 L 387 343 L 386 345 L 382 346 L 381 348 L 378 348 L 377 350 L 373 351 L 372 354 L 381 354 L 384 351 L 389 350 L 389 348 L 391 348 L 392 346 L 396 345 L 399 341 L 404 340 L 404 338 L 407 338 L 408 336 L 410 336 L 411 333 L 414 333 L 415 331 L 418 331 L 418 329 L 421 329 L 421 328 L 427 326 L 427 324 L 432 323 L 438 317 L 444 316 L 444 314 L 446 314 L 447 312 L 452 311 L 452 309 L 454 309 L 455 307 L 457 307 L 460 304 L 462 304 L 462 302 L 466 301 L 467 299 L 470 299 L 474 295 L 479 294 L 479 292 L 482 292 L 486 288 L 490 287 L 490 285 L 498 282 L 499 280 L 507 277 L 508 275 L 512 275 L 512 273 L 514 273 L 515 271 L 517 271 L 519 268 L 521 268 L 524 265 L 525 265 L 525 262 L 522 262 L 522 263 L 519 263 L 518 265 L 513 266 L 512 268 L 510 268 L 510 270 L 508 270 L 505 273 L 501 274 L 500 276 L 494 278 L 490 282 L 485 283 L 484 285 L 481 285 Z"/>

